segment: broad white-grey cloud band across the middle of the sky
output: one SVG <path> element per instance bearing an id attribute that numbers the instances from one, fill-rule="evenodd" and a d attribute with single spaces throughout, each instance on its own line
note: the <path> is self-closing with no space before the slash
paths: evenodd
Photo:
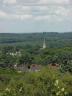
<path id="1" fill-rule="evenodd" d="M 62 21 L 71 18 L 72 8 L 63 6 L 17 6 L 15 7 L 14 13 L 8 13 L 0 11 L 0 18 L 5 19 L 16 19 L 16 20 L 49 20 L 49 21 Z"/>

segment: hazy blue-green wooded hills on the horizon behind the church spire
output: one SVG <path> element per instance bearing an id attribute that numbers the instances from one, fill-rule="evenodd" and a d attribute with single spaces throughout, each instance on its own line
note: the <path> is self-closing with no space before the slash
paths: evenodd
<path id="1" fill-rule="evenodd" d="M 72 32 L 57 33 L 0 33 L 0 45 L 31 45 L 42 46 L 46 38 L 47 47 L 70 47 L 72 46 Z"/>

